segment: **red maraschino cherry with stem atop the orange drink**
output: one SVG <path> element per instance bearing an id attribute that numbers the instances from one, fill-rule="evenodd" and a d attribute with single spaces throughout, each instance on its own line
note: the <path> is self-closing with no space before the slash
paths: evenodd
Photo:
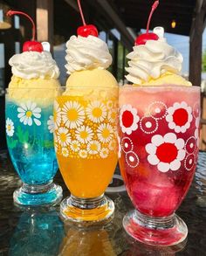
<path id="1" fill-rule="evenodd" d="M 98 38 L 98 30 L 93 24 L 86 24 L 85 17 L 83 11 L 81 9 L 80 0 L 78 0 L 79 11 L 81 15 L 81 19 L 83 22 L 83 26 L 79 26 L 77 33 L 79 36 L 87 38 L 88 36 L 93 36 Z"/>

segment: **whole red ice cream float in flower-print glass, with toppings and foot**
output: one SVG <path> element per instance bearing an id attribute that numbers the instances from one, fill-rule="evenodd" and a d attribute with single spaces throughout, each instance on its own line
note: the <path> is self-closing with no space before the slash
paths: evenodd
<path id="1" fill-rule="evenodd" d="M 170 246 L 188 232 L 175 210 L 196 170 L 200 90 L 179 74 L 182 55 L 162 28 L 154 32 L 137 38 L 127 55 L 133 85 L 120 88 L 120 170 L 136 209 L 123 225 L 134 239 Z"/>

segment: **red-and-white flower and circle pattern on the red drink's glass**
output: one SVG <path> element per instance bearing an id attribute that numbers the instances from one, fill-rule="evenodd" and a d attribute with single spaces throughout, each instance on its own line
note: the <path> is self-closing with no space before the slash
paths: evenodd
<path id="1" fill-rule="evenodd" d="M 148 164 L 156 166 L 162 173 L 180 170 L 181 166 L 186 170 L 192 170 L 198 152 L 199 103 L 189 106 L 187 102 L 182 101 L 167 106 L 164 102 L 154 101 L 146 109 L 146 115 L 140 119 L 139 110 L 132 105 L 127 104 L 120 108 L 119 157 L 124 154 L 131 169 L 139 165 L 140 159 L 138 154 L 134 153 L 132 140 L 133 134 L 138 132 L 139 136 L 143 135 L 148 140 L 148 143 L 141 147 Z M 166 134 L 162 129 L 164 126 L 168 130 Z M 185 139 L 184 134 L 188 129 L 193 129 L 194 135 Z M 137 137 L 136 140 L 141 144 L 141 137 Z"/>

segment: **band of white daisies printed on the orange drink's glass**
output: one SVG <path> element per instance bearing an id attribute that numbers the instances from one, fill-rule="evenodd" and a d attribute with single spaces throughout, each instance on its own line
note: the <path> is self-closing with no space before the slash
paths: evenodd
<path id="1" fill-rule="evenodd" d="M 118 113 L 114 105 L 113 100 L 58 100 L 54 105 L 54 113 L 59 114 L 60 120 L 56 121 L 54 133 L 58 154 L 97 159 L 106 158 L 118 150 Z M 65 149 L 68 150 L 66 154 Z"/>

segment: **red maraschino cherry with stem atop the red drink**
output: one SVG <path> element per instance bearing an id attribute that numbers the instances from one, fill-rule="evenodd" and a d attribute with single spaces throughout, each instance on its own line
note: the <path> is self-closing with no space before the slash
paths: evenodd
<path id="1" fill-rule="evenodd" d="M 152 10 L 150 11 L 148 17 L 148 24 L 147 24 L 147 31 L 144 34 L 141 34 L 139 37 L 136 38 L 134 45 L 145 45 L 148 40 L 158 40 L 159 37 L 154 33 L 149 33 L 149 24 L 151 21 L 151 17 L 153 16 L 154 10 L 157 8 L 159 1 L 155 1 L 152 6 Z"/>

